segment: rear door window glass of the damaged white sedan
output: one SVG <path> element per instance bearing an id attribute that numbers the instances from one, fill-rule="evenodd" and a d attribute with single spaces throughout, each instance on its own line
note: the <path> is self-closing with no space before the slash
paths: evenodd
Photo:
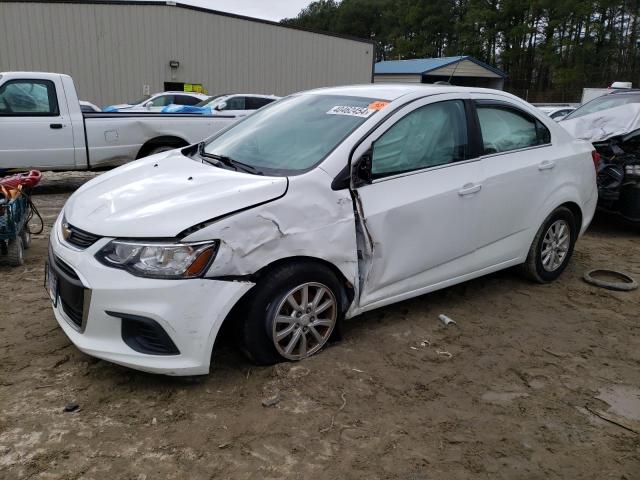
<path id="1" fill-rule="evenodd" d="M 478 105 L 484 153 L 500 153 L 550 143 L 542 122 L 514 108 Z"/>

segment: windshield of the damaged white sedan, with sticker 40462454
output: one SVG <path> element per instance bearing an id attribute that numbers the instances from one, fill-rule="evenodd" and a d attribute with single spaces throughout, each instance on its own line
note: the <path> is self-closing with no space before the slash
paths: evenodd
<path id="1" fill-rule="evenodd" d="M 226 130 L 204 151 L 271 174 L 302 172 L 320 163 L 380 105 L 386 105 L 372 105 L 376 100 L 313 94 L 287 97 Z"/>

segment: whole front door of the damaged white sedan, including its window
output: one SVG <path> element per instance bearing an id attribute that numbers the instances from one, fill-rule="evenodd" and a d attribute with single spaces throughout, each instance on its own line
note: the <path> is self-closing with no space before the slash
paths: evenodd
<path id="1" fill-rule="evenodd" d="M 372 177 L 355 192 L 371 245 L 361 261 L 361 307 L 475 271 L 483 175 L 466 110 L 460 94 L 428 97 L 393 115 L 356 150 L 368 149 Z"/>

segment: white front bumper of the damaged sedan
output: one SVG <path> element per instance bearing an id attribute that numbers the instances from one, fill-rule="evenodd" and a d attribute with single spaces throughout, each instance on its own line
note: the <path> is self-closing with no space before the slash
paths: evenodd
<path id="1" fill-rule="evenodd" d="M 199 375 L 209 371 L 216 336 L 233 306 L 254 284 L 204 278 L 157 280 L 109 268 L 94 255 L 110 238 L 85 250 L 60 235 L 61 217 L 50 237 L 50 254 L 71 267 L 85 288 L 82 325 L 58 301 L 53 311 L 69 339 L 83 352 L 152 373 Z M 68 310 L 67 310 L 68 311 Z M 110 312 L 110 313 L 107 313 Z M 122 319 L 113 312 L 156 322 L 178 354 L 153 355 L 131 348 L 123 339 Z"/>

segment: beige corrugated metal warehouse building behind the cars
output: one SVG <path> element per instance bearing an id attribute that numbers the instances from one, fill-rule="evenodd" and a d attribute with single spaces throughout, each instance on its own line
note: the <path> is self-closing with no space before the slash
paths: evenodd
<path id="1" fill-rule="evenodd" d="M 192 84 L 285 95 L 370 83 L 373 58 L 365 40 L 175 2 L 0 0 L 0 72 L 67 73 L 99 105 Z"/>

